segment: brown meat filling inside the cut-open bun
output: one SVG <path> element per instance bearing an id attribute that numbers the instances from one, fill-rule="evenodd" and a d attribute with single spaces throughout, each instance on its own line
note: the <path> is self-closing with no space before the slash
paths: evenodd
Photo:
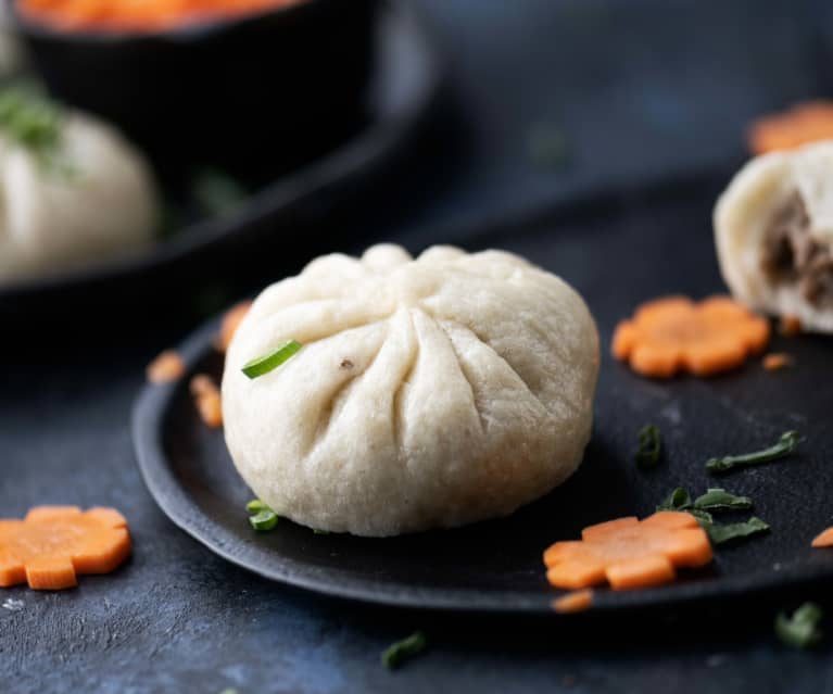
<path id="1" fill-rule="evenodd" d="M 810 217 L 798 192 L 772 217 L 763 244 L 761 269 L 770 281 L 795 283 L 811 304 L 833 305 L 833 252 L 810 237 Z"/>

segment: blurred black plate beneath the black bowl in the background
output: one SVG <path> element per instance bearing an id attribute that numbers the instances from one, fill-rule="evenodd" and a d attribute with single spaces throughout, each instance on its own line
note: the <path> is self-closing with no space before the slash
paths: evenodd
<path id="1" fill-rule="evenodd" d="M 438 102 L 442 58 L 419 17 L 399 2 L 384 2 L 377 34 L 370 116 L 354 137 L 267 185 L 234 215 L 195 224 L 144 254 L 74 273 L 0 283 L 0 314 L 30 317 L 34 311 L 65 310 L 102 296 L 118 296 L 124 307 L 124 302 L 146 292 L 167 291 L 171 295 L 185 287 L 192 289 L 220 270 L 228 275 L 235 269 L 229 268 L 230 256 L 238 264 L 255 264 L 267 249 L 280 249 L 286 255 L 298 243 L 287 244 L 276 228 L 298 215 L 323 214 L 320 211 L 361 191 L 363 182 L 367 185 L 390 168 Z"/>

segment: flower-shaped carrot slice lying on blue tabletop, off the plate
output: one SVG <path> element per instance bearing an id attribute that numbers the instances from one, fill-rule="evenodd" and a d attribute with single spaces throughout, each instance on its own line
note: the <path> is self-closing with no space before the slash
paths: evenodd
<path id="1" fill-rule="evenodd" d="M 108 573 L 129 554 L 127 521 L 113 508 L 36 506 L 23 520 L 0 520 L 2 588 L 72 588 L 76 573 Z"/>

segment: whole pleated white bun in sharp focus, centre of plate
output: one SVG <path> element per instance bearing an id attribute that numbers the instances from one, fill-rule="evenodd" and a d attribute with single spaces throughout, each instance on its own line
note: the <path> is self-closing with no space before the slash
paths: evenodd
<path id="1" fill-rule="evenodd" d="M 283 341 L 303 349 L 255 379 Z M 500 251 L 376 245 L 266 289 L 226 356 L 226 442 L 279 515 L 393 535 L 510 514 L 590 438 L 598 337 L 558 277 Z"/>

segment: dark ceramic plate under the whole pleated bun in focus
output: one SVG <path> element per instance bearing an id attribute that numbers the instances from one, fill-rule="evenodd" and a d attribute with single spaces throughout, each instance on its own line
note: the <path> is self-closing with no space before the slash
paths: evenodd
<path id="1" fill-rule="evenodd" d="M 670 292 L 721 291 L 710 209 L 724 176 L 639 197 L 586 201 L 545 219 L 498 225 L 457 238 L 471 248 L 505 248 L 573 283 L 596 316 L 603 345 L 616 321 L 645 299 Z M 395 239 L 394 239 L 395 240 Z M 430 232 L 424 242 L 438 242 Z M 219 375 L 212 351 L 216 324 L 182 346 L 189 368 Z M 654 510 L 674 487 L 707 487 L 750 496 L 771 532 L 720 547 L 712 567 L 672 585 L 630 593 L 599 591 L 597 609 L 737 597 L 754 591 L 833 578 L 833 551 L 810 540 L 833 522 L 833 344 L 830 339 L 773 338 L 795 367 L 768 373 L 754 359 L 712 378 L 654 382 L 615 363 L 603 349 L 593 439 L 579 471 L 548 496 L 501 520 L 458 530 L 370 540 L 319 535 L 282 521 L 265 534 L 243 510 L 251 492 L 237 476 L 220 432 L 200 422 L 185 382 L 148 387 L 134 414 L 144 479 L 171 519 L 210 550 L 262 576 L 305 589 L 402 606 L 544 611 L 541 553 L 589 523 Z M 633 462 L 636 431 L 656 422 L 666 456 L 652 471 Z M 710 477 L 704 463 L 774 441 L 787 429 L 806 438 L 788 459 Z M 728 516 L 727 521 L 741 516 Z"/>

